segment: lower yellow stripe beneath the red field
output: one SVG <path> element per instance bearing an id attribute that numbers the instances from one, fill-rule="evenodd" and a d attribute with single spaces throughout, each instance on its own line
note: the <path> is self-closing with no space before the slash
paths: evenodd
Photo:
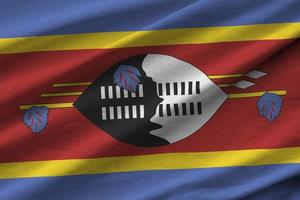
<path id="1" fill-rule="evenodd" d="M 299 147 L 1 163 L 0 178 L 68 176 L 141 170 L 259 166 L 290 163 L 300 163 Z"/>

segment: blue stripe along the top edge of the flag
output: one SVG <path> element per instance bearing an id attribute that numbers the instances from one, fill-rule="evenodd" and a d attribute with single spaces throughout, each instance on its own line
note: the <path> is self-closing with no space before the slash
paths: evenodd
<path id="1" fill-rule="evenodd" d="M 299 0 L 1 0 L 0 37 L 300 21 Z"/>

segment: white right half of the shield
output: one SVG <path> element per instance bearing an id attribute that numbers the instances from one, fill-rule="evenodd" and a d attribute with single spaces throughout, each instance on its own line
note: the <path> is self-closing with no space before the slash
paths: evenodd
<path id="1" fill-rule="evenodd" d="M 159 117 L 157 107 L 156 114 L 150 119 L 150 121 L 162 125 L 162 128 L 153 130 L 150 134 L 164 138 L 170 143 L 182 140 L 204 126 L 227 99 L 223 90 L 214 84 L 207 75 L 193 65 L 174 57 L 148 54 L 144 58 L 142 68 L 146 75 L 156 83 L 200 81 L 200 94 L 163 96 L 162 104 L 172 105 L 200 101 L 202 103 L 201 115 Z"/>

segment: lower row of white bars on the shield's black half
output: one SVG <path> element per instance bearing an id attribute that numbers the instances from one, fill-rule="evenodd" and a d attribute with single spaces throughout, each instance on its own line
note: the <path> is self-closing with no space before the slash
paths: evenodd
<path id="1" fill-rule="evenodd" d="M 144 105 L 101 107 L 102 120 L 142 119 L 144 117 Z"/>

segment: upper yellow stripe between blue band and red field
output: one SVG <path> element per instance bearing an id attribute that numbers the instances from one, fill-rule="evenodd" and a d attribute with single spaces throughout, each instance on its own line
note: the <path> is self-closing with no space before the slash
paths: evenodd
<path id="1" fill-rule="evenodd" d="M 300 23 L 1 38 L 0 53 L 110 49 L 300 37 Z"/>

